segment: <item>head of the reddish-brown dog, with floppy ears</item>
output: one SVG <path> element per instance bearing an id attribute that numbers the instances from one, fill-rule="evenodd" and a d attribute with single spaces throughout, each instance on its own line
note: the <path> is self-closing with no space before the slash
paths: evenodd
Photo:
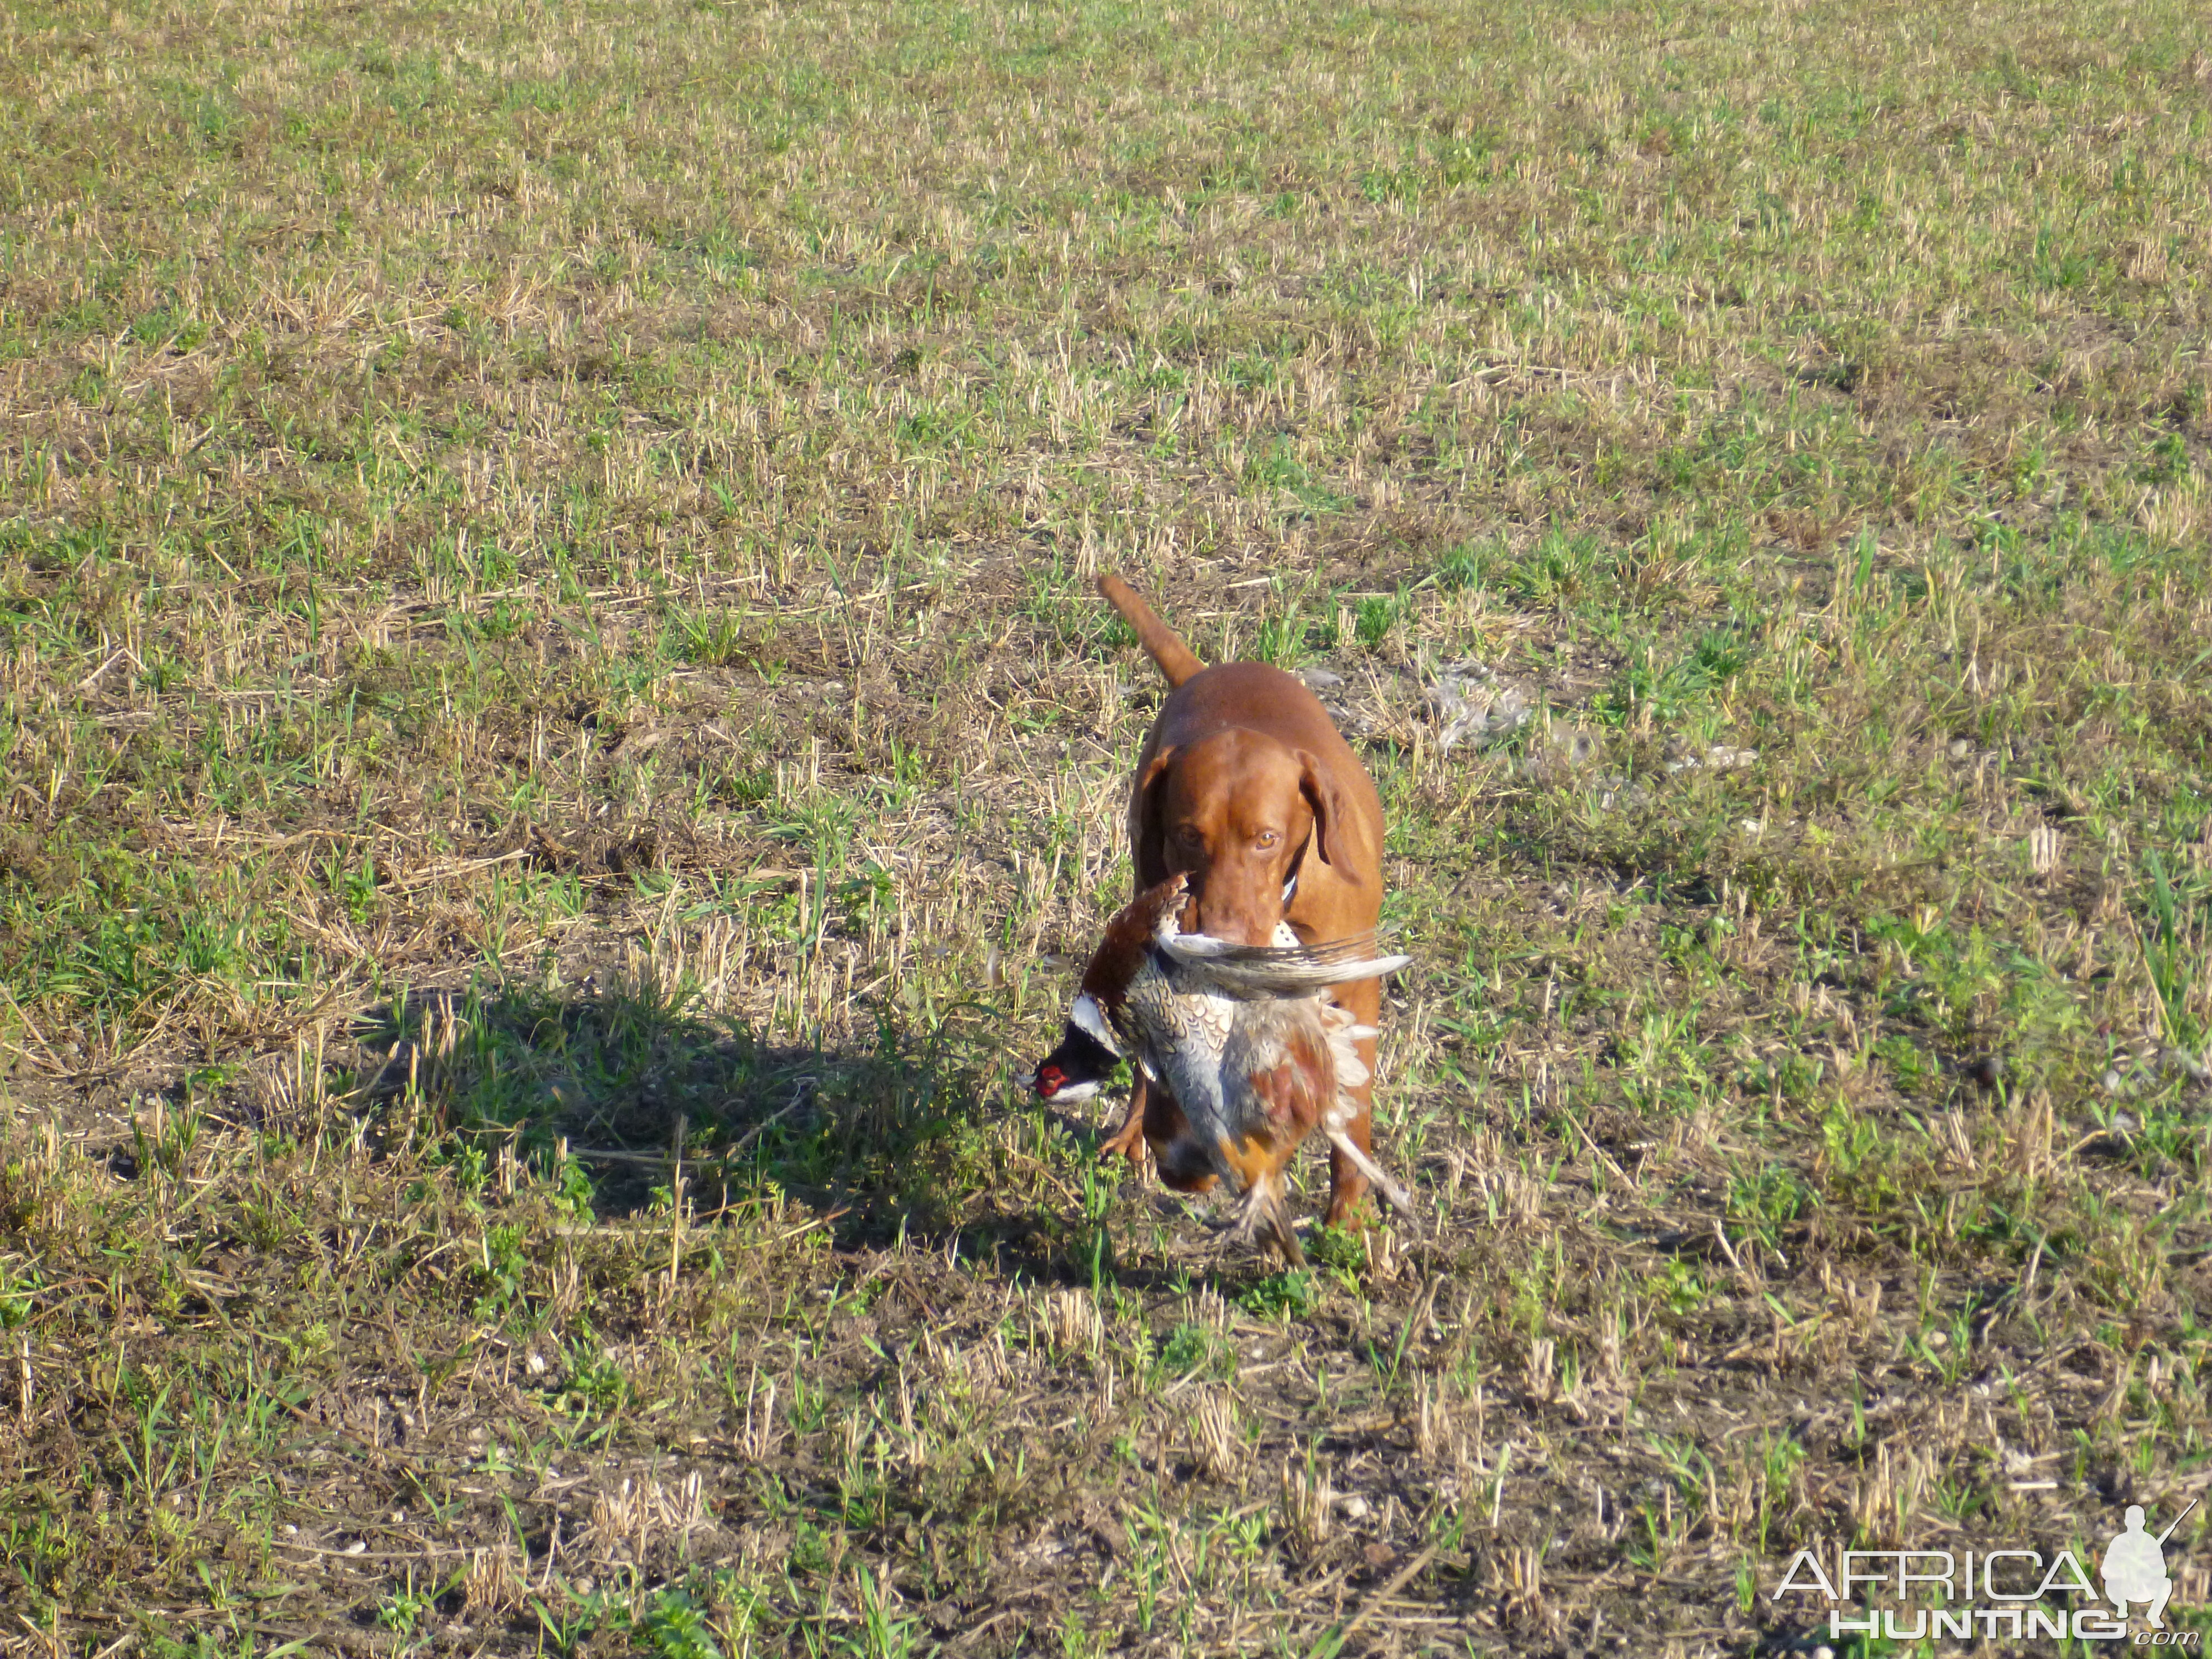
<path id="1" fill-rule="evenodd" d="M 1137 781 L 1139 832 L 1190 876 L 1183 927 L 1230 945 L 1274 942 L 1305 860 L 1336 863 L 1347 812 L 1310 752 L 1239 726 L 1161 750 Z"/>

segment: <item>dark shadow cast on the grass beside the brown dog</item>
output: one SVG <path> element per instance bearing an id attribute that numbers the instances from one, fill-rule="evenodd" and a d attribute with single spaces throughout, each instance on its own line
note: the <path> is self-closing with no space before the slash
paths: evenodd
<path id="1" fill-rule="evenodd" d="M 456 1157 L 502 1146 L 571 1183 L 602 1219 L 670 1199 L 695 1214 L 779 1190 L 841 1248 L 905 1234 L 995 1254 L 1031 1279 L 1095 1272 L 1079 1208 L 1006 1201 L 1004 1020 L 980 1004 L 918 1020 L 878 1013 L 874 1040 L 765 1042 L 686 993 L 420 991 L 354 1026 L 354 1093 L 385 1135 L 442 1135 Z M 1022 1104 L 1026 1110 L 1026 1102 Z M 1051 1133 L 1091 1150 L 1097 1128 Z M 1124 1283 L 1128 1276 L 1124 1272 Z"/>

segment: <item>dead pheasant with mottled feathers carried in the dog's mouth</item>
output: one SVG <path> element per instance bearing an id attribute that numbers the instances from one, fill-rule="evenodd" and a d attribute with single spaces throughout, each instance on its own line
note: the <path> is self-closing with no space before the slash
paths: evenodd
<path id="1" fill-rule="evenodd" d="M 1183 878 L 1152 887 L 1108 925 L 1068 1013 L 1060 1046 L 1037 1064 L 1044 1099 L 1088 1099 L 1121 1055 L 1150 1079 L 1144 1137 L 1159 1177 L 1181 1192 L 1214 1181 L 1243 1192 L 1234 1237 L 1265 1234 L 1305 1261 L 1283 1210 L 1283 1170 L 1316 1130 L 1398 1210 L 1405 1188 L 1345 1133 L 1367 1082 L 1358 1040 L 1374 1035 L 1321 1000 L 1332 984 L 1405 967 L 1367 938 L 1239 947 L 1183 933 Z"/>

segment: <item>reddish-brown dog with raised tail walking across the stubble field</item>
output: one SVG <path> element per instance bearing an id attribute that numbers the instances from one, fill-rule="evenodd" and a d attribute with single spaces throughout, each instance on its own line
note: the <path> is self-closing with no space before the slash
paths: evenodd
<path id="1" fill-rule="evenodd" d="M 1272 945 L 1276 922 L 1305 945 L 1371 933 L 1383 916 L 1383 801 L 1352 745 L 1305 684 L 1259 661 L 1201 664 L 1117 575 L 1099 593 L 1175 688 L 1137 757 L 1128 845 L 1144 894 L 1188 874 L 1186 925 L 1232 945 Z M 1360 1026 L 1383 1013 L 1383 982 L 1340 984 L 1334 1000 Z M 1376 1040 L 1360 1037 L 1369 1079 Z M 1139 1157 L 1175 1144 L 1183 1110 L 1139 1073 L 1128 1119 L 1106 1152 Z M 1374 1082 L 1360 1084 L 1347 1133 L 1374 1150 Z M 1354 1217 L 1367 1177 L 1329 1152 L 1329 1223 Z"/>

